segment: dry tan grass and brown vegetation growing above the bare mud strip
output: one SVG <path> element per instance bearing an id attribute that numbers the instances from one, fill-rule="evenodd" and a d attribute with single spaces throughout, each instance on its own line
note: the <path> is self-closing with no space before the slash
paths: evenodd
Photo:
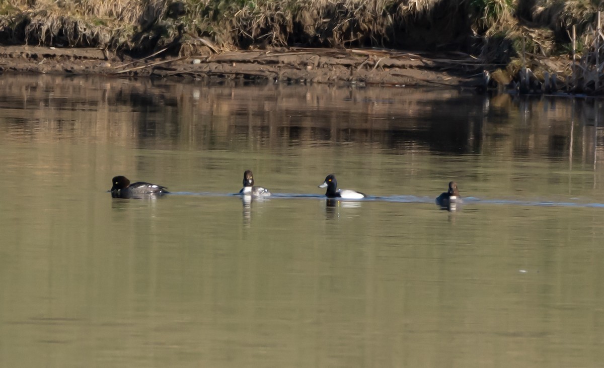
<path id="1" fill-rule="evenodd" d="M 122 58 L 281 46 L 463 51 L 486 71 L 511 76 L 520 92 L 554 84 L 597 94 L 603 83 L 593 79 L 600 78 L 593 63 L 601 58 L 590 55 L 604 43 L 596 37 L 603 7 L 596 0 L 8 0 L 0 5 L 0 40 L 96 47 Z M 580 76 L 572 75 L 573 52 Z M 526 84 L 527 76 L 540 83 Z"/>

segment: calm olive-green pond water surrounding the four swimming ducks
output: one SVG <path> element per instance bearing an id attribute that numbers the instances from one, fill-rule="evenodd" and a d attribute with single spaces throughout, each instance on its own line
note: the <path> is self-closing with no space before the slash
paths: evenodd
<path id="1" fill-rule="evenodd" d="M 601 366 L 600 111 L 0 75 L 0 366 Z"/>

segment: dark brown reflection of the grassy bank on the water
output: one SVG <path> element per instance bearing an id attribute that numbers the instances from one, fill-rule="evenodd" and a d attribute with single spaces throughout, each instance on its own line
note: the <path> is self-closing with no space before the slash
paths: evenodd
<path id="1" fill-rule="evenodd" d="M 6 110 L 0 119 L 2 136 L 13 136 L 11 129 L 27 124 L 40 141 L 92 136 L 123 145 L 136 142 L 143 148 L 184 144 L 204 150 L 238 150 L 241 145 L 254 150 L 312 150 L 345 143 L 358 150 L 400 154 L 435 151 L 535 158 L 568 157 L 572 146 L 574 157 L 588 160 L 593 154 L 585 153 L 593 152 L 597 132 L 593 125 L 604 121 L 593 101 L 576 101 L 573 112 L 571 100 L 518 101 L 503 95 L 486 103 L 482 97 L 441 90 L 201 87 L 147 80 L 108 83 L 103 78 L 65 83 L 62 77 L 49 75 L 19 77 L 2 84 L 0 95 L 16 95 L 24 84 L 30 91 L 26 106 Z M 49 100 L 48 88 L 53 96 L 78 98 Z M 301 95 L 306 96 L 303 106 Z M 94 106 L 96 112 L 82 106 Z M 520 111 L 530 111 L 530 118 Z M 571 134 L 573 114 L 577 120 Z"/>

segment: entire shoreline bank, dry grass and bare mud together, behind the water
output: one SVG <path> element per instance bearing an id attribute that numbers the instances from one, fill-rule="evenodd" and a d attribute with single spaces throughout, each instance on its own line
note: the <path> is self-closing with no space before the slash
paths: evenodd
<path id="1" fill-rule="evenodd" d="M 556 0 L 8 0 L 0 68 L 601 96 L 603 11 Z"/>

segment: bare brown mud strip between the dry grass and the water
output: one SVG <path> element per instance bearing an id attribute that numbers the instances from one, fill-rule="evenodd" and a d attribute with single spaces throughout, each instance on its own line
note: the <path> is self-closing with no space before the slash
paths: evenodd
<path id="1" fill-rule="evenodd" d="M 0 71 L 42 74 L 472 89 L 481 83 L 480 67 L 476 59 L 461 53 L 376 49 L 275 48 L 208 51 L 188 57 L 119 59 L 95 48 L 0 46 Z"/>

